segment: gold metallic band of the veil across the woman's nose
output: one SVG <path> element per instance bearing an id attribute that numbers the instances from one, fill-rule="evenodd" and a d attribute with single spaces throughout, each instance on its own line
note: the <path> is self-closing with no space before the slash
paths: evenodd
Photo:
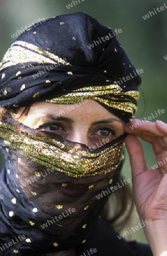
<path id="1" fill-rule="evenodd" d="M 21 155 L 20 161 L 24 156 L 72 177 L 88 177 L 106 174 L 119 166 L 126 134 L 92 150 L 84 144 L 70 142 L 53 133 L 36 131 L 14 119 L 7 119 L 0 124 L 0 137 L 6 150 L 12 148 Z"/>

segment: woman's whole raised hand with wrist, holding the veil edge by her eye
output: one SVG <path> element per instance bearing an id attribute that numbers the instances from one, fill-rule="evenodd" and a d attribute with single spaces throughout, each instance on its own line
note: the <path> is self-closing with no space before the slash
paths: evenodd
<path id="1" fill-rule="evenodd" d="M 130 155 L 137 211 L 141 220 L 152 220 L 144 231 L 154 255 L 167 255 L 167 125 L 161 121 L 133 119 L 124 130 L 129 133 L 125 142 Z M 159 162 L 155 170 L 148 169 L 143 148 L 136 137 L 152 144 Z"/>

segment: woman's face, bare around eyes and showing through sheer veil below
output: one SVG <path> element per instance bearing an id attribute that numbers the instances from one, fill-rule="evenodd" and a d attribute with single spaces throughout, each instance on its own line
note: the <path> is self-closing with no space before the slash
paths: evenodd
<path id="1" fill-rule="evenodd" d="M 55 133 L 69 141 L 86 144 L 93 149 L 124 134 L 124 122 L 94 100 L 70 105 L 37 102 L 31 106 L 27 117 L 22 122 L 33 129 Z M 15 164 L 18 168 L 18 179 L 22 185 L 27 184 L 30 177 L 34 177 L 34 170 L 42 173 L 45 170 L 45 166 L 40 164 L 35 167 L 31 164 L 28 166 L 28 162 L 22 160 L 16 161 Z M 55 171 L 24 186 L 24 192 L 34 200 L 36 207 L 43 211 L 47 208 L 49 213 L 53 213 L 53 209 L 58 211 L 55 214 L 59 213 L 59 209 L 55 208 L 55 204 L 59 202 L 63 205 L 63 209 L 73 207 L 82 212 L 84 217 L 85 213 L 81 211 L 83 203 L 87 204 L 87 200 L 90 200 L 90 193 L 95 196 L 98 191 L 101 192 L 109 184 L 113 175 L 114 172 L 107 172 L 79 179 L 65 175 L 64 172 Z M 67 186 L 63 187 L 62 184 Z M 93 188 L 90 190 L 89 187 L 92 185 Z M 32 194 L 34 192 L 37 196 Z M 91 200 L 93 203 L 94 197 Z"/>

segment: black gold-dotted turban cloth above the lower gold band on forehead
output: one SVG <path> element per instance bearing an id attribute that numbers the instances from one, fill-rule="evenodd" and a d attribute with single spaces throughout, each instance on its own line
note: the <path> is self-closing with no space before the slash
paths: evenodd
<path id="1" fill-rule="evenodd" d="M 90 49 L 105 36 L 109 40 Z M 141 80 L 134 72 L 111 28 L 84 13 L 56 16 L 23 32 L 7 51 L 0 65 L 0 106 L 30 105 L 78 88 L 116 82 L 122 92 L 136 91 Z M 124 82 L 122 78 L 130 74 Z M 129 101 L 136 104 L 130 96 Z M 122 111 L 116 114 L 122 116 Z"/>

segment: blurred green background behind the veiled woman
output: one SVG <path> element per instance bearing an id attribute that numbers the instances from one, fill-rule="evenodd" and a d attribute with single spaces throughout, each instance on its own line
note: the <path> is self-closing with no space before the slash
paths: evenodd
<path id="1" fill-rule="evenodd" d="M 83 0 L 82 0 L 83 1 Z M 126 50 L 130 60 L 136 68 L 143 69 L 141 74 L 143 84 L 141 85 L 141 97 L 137 118 L 144 118 L 164 109 L 165 114 L 157 119 L 167 121 L 166 116 L 166 67 L 167 60 L 167 9 L 157 12 L 149 19 L 143 19 L 145 14 L 153 9 L 167 6 L 167 0 L 85 0 L 78 5 L 68 9 L 66 5 L 72 0 L 0 0 L 0 57 L 2 59 L 7 48 L 14 40 L 12 34 L 17 30 L 23 30 L 39 18 L 51 18 L 52 16 L 75 13 L 82 11 L 100 23 L 112 29 L 121 28 L 122 33 L 117 38 Z M 156 121 L 156 118 L 152 121 Z M 145 157 L 148 167 L 151 168 L 156 160 L 152 153 L 152 147 L 143 143 Z M 126 163 L 123 173 L 131 178 L 131 168 L 126 152 Z M 3 156 L 0 155 L 3 165 Z M 136 212 L 132 215 L 132 222 L 128 224 L 128 230 L 139 223 Z M 123 231 L 122 230 L 122 231 Z M 143 230 L 133 233 L 128 239 L 145 241 Z"/>

